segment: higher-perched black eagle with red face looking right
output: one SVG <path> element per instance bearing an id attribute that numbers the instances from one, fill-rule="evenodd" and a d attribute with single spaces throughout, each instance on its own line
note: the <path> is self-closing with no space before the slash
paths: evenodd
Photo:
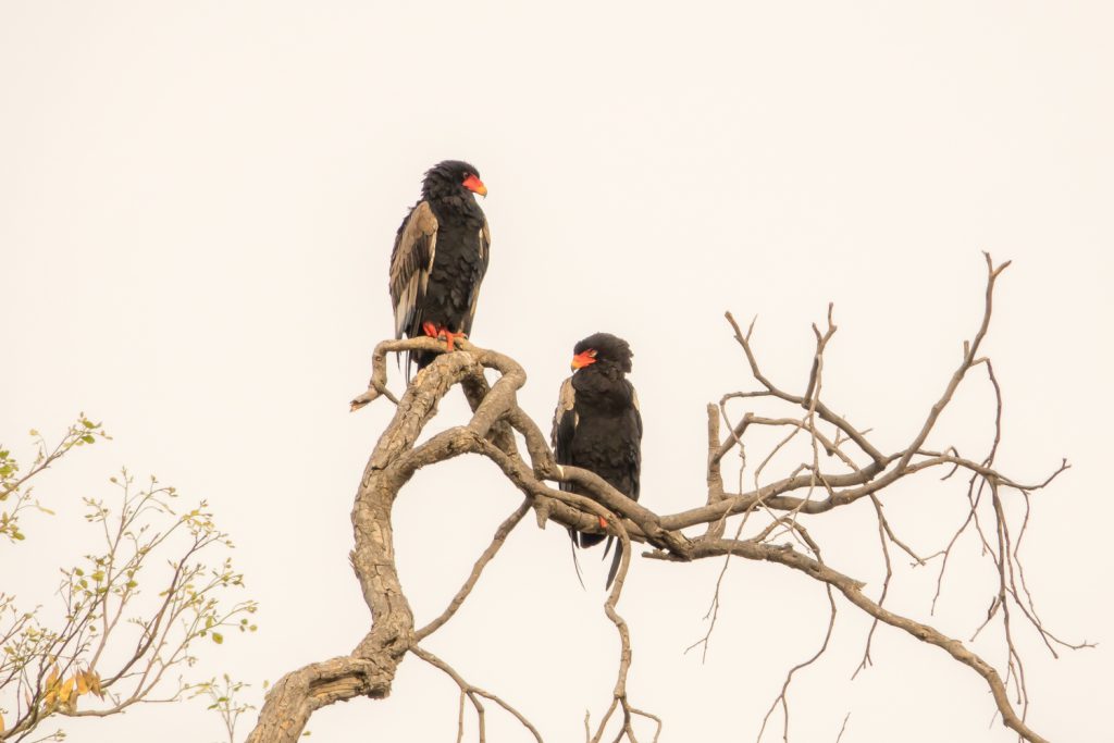
<path id="1" fill-rule="evenodd" d="M 486 196 L 487 186 L 468 163 L 444 160 L 427 170 L 421 199 L 402 221 L 391 252 L 394 338 L 440 338 L 451 351 L 471 331 L 491 244 L 473 194 Z M 412 359 L 423 369 L 436 355 L 419 351 Z M 409 362 L 408 354 L 408 382 Z"/>

